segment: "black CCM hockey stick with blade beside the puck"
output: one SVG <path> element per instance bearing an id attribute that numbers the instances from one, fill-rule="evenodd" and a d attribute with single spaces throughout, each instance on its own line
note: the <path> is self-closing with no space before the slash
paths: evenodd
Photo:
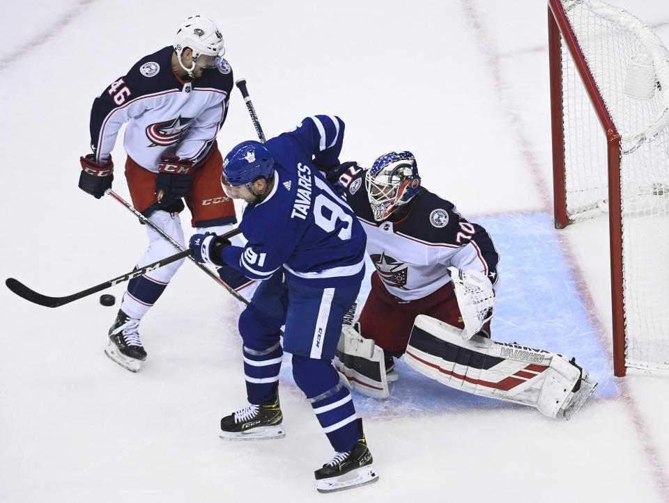
<path id="1" fill-rule="evenodd" d="M 241 231 L 239 229 L 233 229 L 230 232 L 222 234 L 222 237 L 233 237 L 239 234 L 240 232 Z M 38 292 L 35 292 L 29 287 L 26 287 L 26 285 L 24 285 L 19 280 L 15 280 L 14 278 L 7 278 L 5 280 L 5 285 L 7 285 L 8 289 L 10 289 L 18 296 L 25 298 L 26 301 L 43 305 L 47 308 L 59 308 L 61 305 L 68 304 L 72 301 L 77 301 L 79 298 L 83 298 L 91 294 L 101 292 L 102 290 L 105 290 L 109 287 L 118 285 L 118 283 L 132 280 L 132 278 L 137 278 L 137 276 L 141 276 L 142 274 L 148 273 L 149 271 L 153 271 L 154 269 L 158 269 L 159 267 L 166 266 L 167 264 L 171 264 L 172 262 L 176 262 L 177 260 L 183 259 L 183 257 L 190 256 L 192 253 L 193 253 L 192 248 L 185 248 L 179 253 L 175 253 L 174 255 L 165 257 L 164 259 L 158 260 L 157 262 L 153 262 L 153 264 L 148 264 L 148 266 L 144 266 L 141 269 L 134 269 L 129 273 L 125 273 L 121 276 L 118 276 L 118 278 L 105 281 L 104 283 L 100 283 L 100 285 L 95 285 L 95 287 L 82 290 L 82 292 L 77 292 L 76 294 L 66 295 L 64 297 L 49 297 L 47 295 L 38 294 Z"/>

